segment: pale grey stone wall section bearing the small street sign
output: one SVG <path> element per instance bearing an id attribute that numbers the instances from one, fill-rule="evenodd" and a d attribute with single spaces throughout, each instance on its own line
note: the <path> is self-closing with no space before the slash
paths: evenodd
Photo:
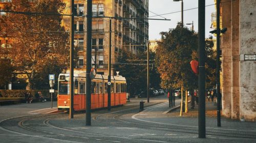
<path id="1" fill-rule="evenodd" d="M 256 61 L 244 61 L 244 54 L 256 54 L 256 1 L 240 0 L 240 120 L 256 121 Z"/>

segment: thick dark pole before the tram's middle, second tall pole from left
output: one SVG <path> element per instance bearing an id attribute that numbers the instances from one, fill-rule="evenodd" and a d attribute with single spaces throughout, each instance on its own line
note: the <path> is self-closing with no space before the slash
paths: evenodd
<path id="1" fill-rule="evenodd" d="M 87 0 L 86 125 L 91 126 L 92 0 Z"/>

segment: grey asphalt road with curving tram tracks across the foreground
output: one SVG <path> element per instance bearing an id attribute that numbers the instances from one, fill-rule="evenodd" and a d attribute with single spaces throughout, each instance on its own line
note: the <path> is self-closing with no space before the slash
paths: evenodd
<path id="1" fill-rule="evenodd" d="M 139 101 L 86 114 L 53 112 L 50 102 L 0 106 L 0 142 L 256 142 L 256 124 L 206 118 L 206 137 L 198 138 L 197 118 L 173 117 L 166 96 L 152 98 L 139 112 Z M 144 99 L 145 100 L 145 99 Z M 145 100 L 146 101 L 146 100 Z M 179 105 L 180 100 L 176 100 Z M 226 125 L 226 127 L 225 127 Z M 228 126 L 228 127 L 227 127 Z"/>

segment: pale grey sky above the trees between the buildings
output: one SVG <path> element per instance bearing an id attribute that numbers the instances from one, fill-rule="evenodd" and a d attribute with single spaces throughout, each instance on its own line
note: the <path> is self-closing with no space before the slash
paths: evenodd
<path id="1" fill-rule="evenodd" d="M 206 6 L 212 4 L 214 4 L 214 0 L 205 0 Z M 183 23 L 184 26 L 191 28 L 192 25 L 186 25 L 186 23 L 192 23 L 192 21 L 194 21 L 194 30 L 198 32 L 198 9 L 193 8 L 198 8 L 198 0 L 183 0 Z M 173 2 L 173 0 L 149 0 L 149 11 L 150 18 L 163 19 L 162 17 L 164 17 L 166 19 L 170 19 L 170 21 L 149 20 L 150 40 L 160 39 L 160 32 L 167 32 L 169 28 L 175 28 L 177 23 L 181 21 L 181 1 Z M 158 15 L 172 12 L 177 13 L 162 15 L 162 17 L 151 17 L 156 15 L 152 12 Z M 211 35 L 209 31 L 212 31 L 210 28 L 212 12 L 215 12 L 214 5 L 205 7 L 205 37 L 209 37 L 209 35 Z"/>

